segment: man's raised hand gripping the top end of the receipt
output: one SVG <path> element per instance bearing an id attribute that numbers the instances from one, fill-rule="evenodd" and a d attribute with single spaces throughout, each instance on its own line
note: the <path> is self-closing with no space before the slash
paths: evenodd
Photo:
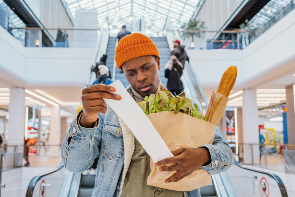
<path id="1" fill-rule="evenodd" d="M 105 103 L 103 98 L 114 100 L 122 99 L 121 96 L 112 93 L 115 91 L 116 89 L 114 87 L 103 84 L 95 84 L 83 89 L 83 113 L 80 119 L 80 125 L 82 127 L 92 127 L 92 124 L 98 118 L 98 113 L 104 114 L 107 111 L 107 104 Z"/>

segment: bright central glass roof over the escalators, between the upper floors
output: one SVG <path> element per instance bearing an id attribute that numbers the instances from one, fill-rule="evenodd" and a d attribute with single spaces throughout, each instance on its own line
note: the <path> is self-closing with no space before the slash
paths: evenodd
<path id="1" fill-rule="evenodd" d="M 199 0 L 63 0 L 73 18 L 79 9 L 96 9 L 98 27 L 108 18 L 110 34 L 122 25 L 138 31 L 144 25 L 146 34 L 159 34 L 166 25 L 179 28 L 192 17 Z M 132 24 L 134 18 L 134 24 Z"/>

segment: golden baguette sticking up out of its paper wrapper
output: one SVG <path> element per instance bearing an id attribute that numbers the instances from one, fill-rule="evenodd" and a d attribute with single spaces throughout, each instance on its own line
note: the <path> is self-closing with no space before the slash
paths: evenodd
<path id="1" fill-rule="evenodd" d="M 230 66 L 229 68 L 226 69 L 226 71 L 223 73 L 222 78 L 220 80 L 218 90 L 217 92 L 212 92 L 210 102 L 208 105 L 208 109 L 206 111 L 206 119 L 208 122 L 211 122 L 212 117 L 222 100 L 222 95 L 228 97 L 230 95 L 230 91 L 234 87 L 234 83 L 237 78 L 237 67 L 236 66 Z M 220 95 L 222 94 L 222 95 Z"/>

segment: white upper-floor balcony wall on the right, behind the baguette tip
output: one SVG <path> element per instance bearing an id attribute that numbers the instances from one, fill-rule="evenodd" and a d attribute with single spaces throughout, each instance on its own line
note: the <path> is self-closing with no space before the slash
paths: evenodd
<path id="1" fill-rule="evenodd" d="M 212 87 L 218 87 L 224 70 L 231 65 L 238 67 L 233 91 L 259 86 L 295 72 L 294 18 L 295 10 L 244 50 L 187 50 L 205 94 L 209 89 L 212 91 Z"/>

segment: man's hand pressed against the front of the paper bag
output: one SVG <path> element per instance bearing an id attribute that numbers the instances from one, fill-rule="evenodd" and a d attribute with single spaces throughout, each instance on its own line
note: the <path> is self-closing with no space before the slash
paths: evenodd
<path id="1" fill-rule="evenodd" d="M 180 181 L 201 166 L 211 162 L 210 152 L 205 147 L 179 148 L 171 152 L 175 157 L 163 159 L 155 163 L 155 166 L 161 166 L 159 167 L 160 171 L 177 171 L 165 183 Z M 174 165 L 166 166 L 167 164 Z"/>

